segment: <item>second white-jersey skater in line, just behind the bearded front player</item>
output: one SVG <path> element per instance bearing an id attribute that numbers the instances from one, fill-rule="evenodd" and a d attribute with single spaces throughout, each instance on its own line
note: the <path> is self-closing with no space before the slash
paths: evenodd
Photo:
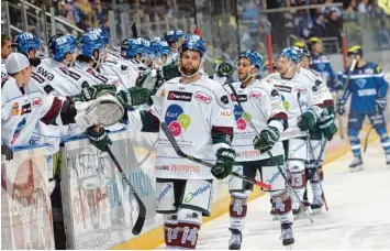
<path id="1" fill-rule="evenodd" d="M 239 81 L 232 84 L 237 97 L 225 85 L 233 100 L 236 120 L 232 148 L 236 151 L 237 156 L 233 172 L 255 178 L 258 171 L 261 181 L 271 185 L 270 190 L 265 190 L 270 193 L 277 205 L 282 244 L 290 245 L 294 243 L 291 229 L 293 222 L 291 198 L 287 193 L 283 177 L 267 154 L 270 151 L 275 161 L 283 168 L 283 145 L 279 138 L 288 127 L 288 116 L 282 106 L 281 96 L 274 85 L 256 79 L 263 65 L 264 61 L 257 52 L 246 51 L 241 53 L 237 66 Z M 278 83 L 275 79 L 271 81 L 275 85 Z M 237 99 L 241 106 L 237 103 Z M 244 114 L 244 112 L 246 113 Z M 252 128 L 247 119 L 252 120 L 256 129 Z M 259 138 L 256 135 L 256 130 L 259 131 Z M 229 249 L 239 250 L 247 214 L 247 198 L 253 185 L 236 177 L 231 177 L 229 187 L 231 194 L 230 230 L 232 232 Z"/>

